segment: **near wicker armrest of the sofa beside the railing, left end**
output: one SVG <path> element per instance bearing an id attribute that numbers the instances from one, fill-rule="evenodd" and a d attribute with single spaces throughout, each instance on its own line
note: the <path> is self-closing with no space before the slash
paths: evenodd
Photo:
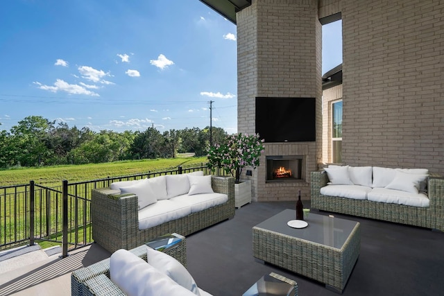
<path id="1" fill-rule="evenodd" d="M 139 230 L 137 195 L 115 194 L 108 188 L 92 189 L 92 238 L 106 250 L 116 245 L 128 250 Z"/>

